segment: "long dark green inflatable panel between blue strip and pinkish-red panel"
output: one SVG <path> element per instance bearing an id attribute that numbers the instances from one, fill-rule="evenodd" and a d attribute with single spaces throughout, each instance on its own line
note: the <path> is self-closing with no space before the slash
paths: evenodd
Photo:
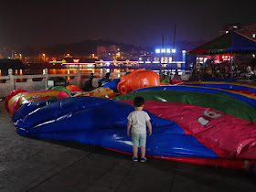
<path id="1" fill-rule="evenodd" d="M 173 101 L 193 104 L 226 112 L 242 119 L 256 122 L 256 108 L 225 93 L 207 93 L 197 91 L 140 91 L 121 96 L 112 100 L 133 100 L 144 97 L 145 101 Z"/>

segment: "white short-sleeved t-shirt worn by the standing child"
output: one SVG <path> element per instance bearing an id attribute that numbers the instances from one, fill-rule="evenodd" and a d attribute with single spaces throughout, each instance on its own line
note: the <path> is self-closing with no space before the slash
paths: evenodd
<path id="1" fill-rule="evenodd" d="M 132 133 L 146 133 L 146 122 L 150 120 L 147 112 L 131 112 L 127 119 L 132 122 Z"/>

